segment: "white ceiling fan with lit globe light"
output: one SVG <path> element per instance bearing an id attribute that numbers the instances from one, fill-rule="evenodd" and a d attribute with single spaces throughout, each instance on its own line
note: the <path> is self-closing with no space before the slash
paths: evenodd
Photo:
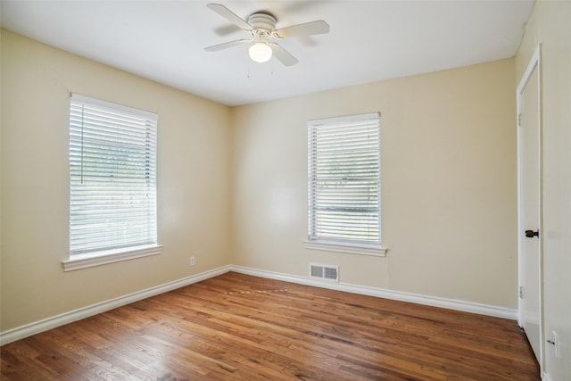
<path id="1" fill-rule="evenodd" d="M 303 24 L 292 25 L 291 27 L 276 29 L 277 19 L 269 12 L 254 12 L 248 17 L 248 21 L 245 21 L 224 5 L 211 3 L 206 6 L 252 35 L 251 38 L 243 38 L 224 44 L 205 47 L 204 50 L 207 52 L 217 52 L 232 46 L 252 44 L 248 53 L 253 61 L 268 62 L 273 54 L 277 60 L 282 62 L 285 66 L 293 66 L 298 62 L 297 58 L 271 40 L 329 33 L 329 24 L 323 20 L 310 21 Z"/>

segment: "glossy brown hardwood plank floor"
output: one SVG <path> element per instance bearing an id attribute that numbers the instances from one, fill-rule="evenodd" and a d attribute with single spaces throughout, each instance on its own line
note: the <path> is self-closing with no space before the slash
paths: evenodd
<path id="1" fill-rule="evenodd" d="M 539 380 L 515 321 L 227 273 L 0 349 L 5 380 Z"/>

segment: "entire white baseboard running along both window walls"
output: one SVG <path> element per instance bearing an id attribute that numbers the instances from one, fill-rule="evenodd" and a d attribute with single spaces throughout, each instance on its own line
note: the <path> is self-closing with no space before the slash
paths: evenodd
<path id="1" fill-rule="evenodd" d="M 397 300 L 401 302 L 413 302 L 418 304 L 430 305 L 434 307 L 446 308 L 449 310 L 472 312 L 503 319 L 512 319 L 512 320 L 517 319 L 517 310 L 510 310 L 486 304 L 463 302 L 463 301 L 444 299 L 444 298 L 438 298 L 434 296 L 426 296 L 420 294 L 402 293 L 399 291 L 385 290 L 376 287 L 358 286 L 346 283 L 321 282 L 319 280 L 310 279 L 309 277 L 298 277 L 273 271 L 251 269 L 243 266 L 228 265 L 228 266 L 223 266 L 219 269 L 212 269 L 210 271 L 205 271 L 203 273 L 196 274 L 190 277 L 184 277 L 182 279 L 165 283 L 160 286 L 154 286 L 142 291 L 138 291 L 137 293 L 120 296 L 119 298 L 115 298 L 106 302 L 99 302 L 81 308 L 79 310 L 65 312 L 62 313 L 61 315 L 56 315 L 54 317 L 42 319 L 34 323 L 27 324 L 25 326 L 16 327 L 8 331 L 0 332 L 0 345 L 9 344 L 15 342 L 16 340 L 28 337 L 30 335 L 39 334 L 40 332 L 44 332 L 48 329 L 60 327 L 80 319 L 86 319 L 98 313 L 102 313 L 104 311 L 110 311 L 114 308 L 132 302 L 137 302 L 149 298 L 151 296 L 175 290 L 180 287 L 192 285 L 193 283 L 200 282 L 202 280 L 211 277 L 217 277 L 221 274 L 227 273 L 228 271 L 236 271 L 242 274 L 252 275 L 254 277 L 268 277 L 271 279 L 283 280 L 285 282 L 292 282 L 301 285 L 329 288 L 332 290 L 344 291 L 352 294 L 364 294 L 369 296 L 376 296 L 379 298 Z M 549 380 L 549 377 L 546 379 Z"/>

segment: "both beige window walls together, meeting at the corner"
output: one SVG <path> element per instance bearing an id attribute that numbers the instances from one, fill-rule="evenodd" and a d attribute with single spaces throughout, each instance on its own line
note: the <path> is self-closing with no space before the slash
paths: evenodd
<path id="1" fill-rule="evenodd" d="M 2 331 L 228 264 L 517 307 L 513 60 L 229 109 L 5 30 L 1 53 Z M 159 113 L 161 256 L 62 271 L 70 92 Z M 387 257 L 304 249 L 306 120 L 375 111 Z"/>

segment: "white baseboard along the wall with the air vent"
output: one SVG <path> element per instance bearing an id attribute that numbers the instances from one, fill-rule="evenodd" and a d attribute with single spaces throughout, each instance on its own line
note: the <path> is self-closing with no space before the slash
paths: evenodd
<path id="1" fill-rule="evenodd" d="M 236 271 L 242 274 L 252 275 L 255 277 L 268 277 L 271 279 L 285 280 L 286 282 L 293 282 L 307 286 L 317 286 L 332 290 L 344 291 L 352 294 L 376 296 L 378 298 L 391 299 L 401 302 L 413 302 L 417 304 L 424 304 L 433 307 L 445 308 L 448 310 L 464 311 L 464 312 L 477 313 L 480 315 L 493 316 L 496 318 L 503 318 L 510 320 L 517 319 L 517 310 L 511 310 L 508 308 L 496 307 L 476 302 L 464 302 L 454 299 L 445 299 L 445 298 L 439 298 L 439 297 L 427 296 L 421 294 L 403 293 L 400 291 L 385 290 L 377 287 L 351 285 L 347 283 L 322 282 L 319 280 L 310 279 L 309 277 L 296 277 L 288 274 L 282 274 L 260 269 L 250 269 L 242 266 L 232 266 L 232 271 Z"/>

